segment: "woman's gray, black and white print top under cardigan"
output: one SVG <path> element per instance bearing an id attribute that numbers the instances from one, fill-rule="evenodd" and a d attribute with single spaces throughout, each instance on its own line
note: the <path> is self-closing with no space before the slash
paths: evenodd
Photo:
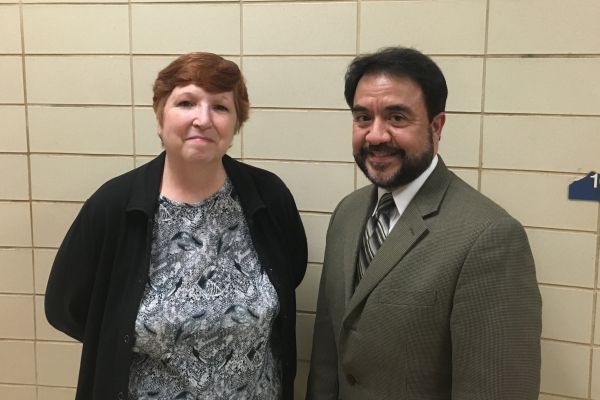
<path id="1" fill-rule="evenodd" d="M 135 322 L 129 399 L 278 399 L 277 293 L 226 180 L 198 204 L 161 196 Z"/>

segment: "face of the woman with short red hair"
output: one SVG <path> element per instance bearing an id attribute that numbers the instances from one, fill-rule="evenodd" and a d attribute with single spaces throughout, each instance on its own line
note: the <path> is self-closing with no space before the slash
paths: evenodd
<path id="1" fill-rule="evenodd" d="M 236 125 L 233 92 L 208 93 L 189 84 L 176 87 L 167 98 L 160 135 L 174 161 L 220 163 Z"/>

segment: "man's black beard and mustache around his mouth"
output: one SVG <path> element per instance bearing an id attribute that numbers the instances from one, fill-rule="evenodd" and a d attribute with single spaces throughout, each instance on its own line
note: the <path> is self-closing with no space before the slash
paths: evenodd
<path id="1" fill-rule="evenodd" d="M 397 187 L 406 185 L 414 181 L 419 175 L 423 173 L 431 164 L 433 160 L 433 137 L 431 129 L 429 129 L 429 138 L 427 141 L 427 148 L 420 153 L 406 154 L 406 151 L 400 148 L 390 146 L 388 143 L 382 143 L 377 145 L 366 145 L 360 148 L 360 150 L 354 153 L 354 161 L 356 165 L 361 169 L 365 176 L 373 182 L 374 185 L 379 186 L 383 189 L 393 190 Z M 382 178 L 369 174 L 367 169 L 367 155 L 372 152 L 385 152 L 388 155 L 398 157 L 402 163 L 397 171 L 387 178 Z M 380 170 L 377 165 L 371 163 L 371 168 Z M 384 166 L 381 166 L 383 170 Z"/>

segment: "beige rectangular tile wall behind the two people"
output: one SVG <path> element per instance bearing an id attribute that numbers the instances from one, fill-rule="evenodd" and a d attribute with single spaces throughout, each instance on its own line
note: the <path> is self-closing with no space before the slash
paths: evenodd
<path id="1" fill-rule="evenodd" d="M 277 172 L 301 209 L 303 398 L 329 215 L 367 183 L 343 74 L 394 44 L 445 71 L 446 162 L 527 229 L 544 299 L 540 400 L 600 399 L 600 203 L 566 196 L 600 172 L 597 0 L 68 3 L 0 0 L 1 399 L 73 399 L 80 345 L 43 314 L 56 248 L 100 183 L 160 151 L 152 82 L 193 50 L 242 67 L 253 108 L 230 153 Z"/>

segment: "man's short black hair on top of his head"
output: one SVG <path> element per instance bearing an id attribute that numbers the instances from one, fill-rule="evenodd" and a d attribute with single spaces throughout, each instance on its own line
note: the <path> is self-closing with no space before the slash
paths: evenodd
<path id="1" fill-rule="evenodd" d="M 356 57 L 346 71 L 344 96 L 352 108 L 356 86 L 363 75 L 384 73 L 416 82 L 423 91 L 429 121 L 446 109 L 448 87 L 440 68 L 418 50 L 387 47 L 373 54 Z"/>

